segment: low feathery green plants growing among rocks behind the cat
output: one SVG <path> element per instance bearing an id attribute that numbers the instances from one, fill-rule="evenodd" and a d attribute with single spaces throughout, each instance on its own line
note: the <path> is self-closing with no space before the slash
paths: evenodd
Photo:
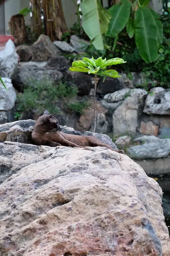
<path id="1" fill-rule="evenodd" d="M 87 107 L 87 103 L 73 102 L 69 103 L 69 99 L 77 95 L 77 87 L 68 86 L 66 83 L 59 82 L 54 85 L 49 80 L 32 80 L 27 81 L 26 89 L 17 96 L 17 112 L 15 118 L 20 119 L 23 111 L 35 111 L 43 113 L 48 109 L 51 113 L 59 113 L 59 106 L 64 106 L 65 111 L 82 113 Z"/>

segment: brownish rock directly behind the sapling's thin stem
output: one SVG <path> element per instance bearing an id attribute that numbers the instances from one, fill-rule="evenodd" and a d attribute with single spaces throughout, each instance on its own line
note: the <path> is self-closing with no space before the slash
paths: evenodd
<path id="1" fill-rule="evenodd" d="M 88 100 L 89 107 L 84 110 L 84 113 L 80 116 L 79 120 L 75 123 L 75 129 L 84 133 L 89 131 L 91 125 L 94 123 L 94 108 L 93 108 L 93 99 Z M 106 114 L 107 110 L 96 101 L 96 116 L 99 113 Z"/>

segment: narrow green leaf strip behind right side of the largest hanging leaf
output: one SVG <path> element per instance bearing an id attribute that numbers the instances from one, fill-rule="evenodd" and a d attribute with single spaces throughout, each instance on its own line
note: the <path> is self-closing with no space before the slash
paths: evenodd
<path id="1" fill-rule="evenodd" d="M 158 33 L 158 44 L 162 44 L 163 42 L 163 25 L 161 21 L 159 20 L 159 15 L 154 12 L 152 9 L 147 8 L 148 15 L 152 17 L 153 24 L 157 28 L 157 33 Z"/>

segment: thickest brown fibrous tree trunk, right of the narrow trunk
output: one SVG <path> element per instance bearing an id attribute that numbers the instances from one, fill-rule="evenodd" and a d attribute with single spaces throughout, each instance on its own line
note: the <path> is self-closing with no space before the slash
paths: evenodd
<path id="1" fill-rule="evenodd" d="M 65 17 L 61 0 L 43 0 L 44 27 L 51 41 L 60 40 L 66 31 Z"/>

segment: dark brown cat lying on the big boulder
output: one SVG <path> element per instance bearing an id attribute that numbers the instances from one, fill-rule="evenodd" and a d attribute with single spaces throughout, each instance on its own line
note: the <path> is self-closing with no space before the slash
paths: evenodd
<path id="1" fill-rule="evenodd" d="M 105 143 L 102 143 L 93 136 L 79 136 L 74 134 L 65 134 L 59 131 L 60 126 L 58 120 L 53 114 L 44 114 L 35 123 L 34 131 L 32 132 L 32 140 L 36 145 L 47 145 L 50 147 L 68 146 L 68 147 L 96 147 L 101 146 L 110 148 L 113 151 L 123 153 L 122 150 L 115 150 Z"/>

